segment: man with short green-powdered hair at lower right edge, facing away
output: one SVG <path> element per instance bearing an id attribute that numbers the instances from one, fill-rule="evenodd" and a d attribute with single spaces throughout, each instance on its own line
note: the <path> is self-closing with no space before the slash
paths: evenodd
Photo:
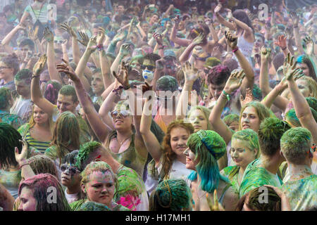
<path id="1" fill-rule="evenodd" d="M 290 169 L 290 179 L 281 189 L 294 211 L 316 210 L 317 175 L 311 171 L 313 145 L 311 132 L 302 127 L 289 129 L 280 139 L 280 149 Z"/>

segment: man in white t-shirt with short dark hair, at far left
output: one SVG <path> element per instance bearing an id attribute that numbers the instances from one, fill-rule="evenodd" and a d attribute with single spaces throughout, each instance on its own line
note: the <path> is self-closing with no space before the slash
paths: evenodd
<path id="1" fill-rule="evenodd" d="M 32 71 L 27 69 L 20 70 L 14 77 L 15 90 L 19 96 L 15 99 L 10 113 L 21 117 L 24 123 L 29 122 L 32 114 L 31 79 Z"/>

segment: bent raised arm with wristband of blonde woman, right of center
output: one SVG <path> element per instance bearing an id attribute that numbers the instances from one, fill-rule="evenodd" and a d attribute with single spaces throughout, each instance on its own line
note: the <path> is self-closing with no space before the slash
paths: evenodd
<path id="1" fill-rule="evenodd" d="M 225 103 L 227 103 L 228 98 L 230 98 L 230 94 L 232 94 L 235 90 L 239 89 L 242 84 L 242 79 L 244 78 L 244 71 L 240 70 L 240 72 L 232 73 L 225 83 L 225 88 L 223 89 L 223 93 L 220 94 L 217 103 L 213 106 L 209 116 L 209 122 L 213 126 L 213 130 L 216 131 L 220 136 L 223 137 L 225 143 L 229 143 L 232 137 L 232 133 L 229 127 L 221 120 L 221 113 L 223 112 L 223 108 L 225 108 Z"/>

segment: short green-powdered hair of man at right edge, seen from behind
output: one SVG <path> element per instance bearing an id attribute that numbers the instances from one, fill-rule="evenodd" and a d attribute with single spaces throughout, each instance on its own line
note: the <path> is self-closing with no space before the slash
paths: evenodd
<path id="1" fill-rule="evenodd" d="M 296 127 L 286 131 L 280 139 L 280 148 L 287 162 L 295 165 L 302 164 L 312 144 L 311 132 L 303 127 Z"/>

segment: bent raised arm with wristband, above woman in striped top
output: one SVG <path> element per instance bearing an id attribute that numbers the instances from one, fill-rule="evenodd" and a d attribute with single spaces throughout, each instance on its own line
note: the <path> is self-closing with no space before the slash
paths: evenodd
<path id="1" fill-rule="evenodd" d="M 41 56 L 37 63 L 35 63 L 35 66 L 33 68 L 33 76 L 31 82 L 31 100 L 45 113 L 53 115 L 56 106 L 42 96 L 41 88 L 39 86 L 39 75 L 41 75 L 46 60 L 46 55 Z"/>

